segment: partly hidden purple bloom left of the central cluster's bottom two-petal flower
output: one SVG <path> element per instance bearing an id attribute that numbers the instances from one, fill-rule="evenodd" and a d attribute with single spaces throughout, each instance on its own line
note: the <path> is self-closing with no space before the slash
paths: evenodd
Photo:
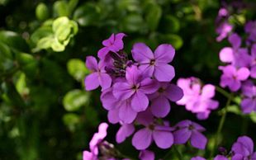
<path id="1" fill-rule="evenodd" d="M 118 144 L 121 144 L 126 140 L 127 137 L 129 137 L 131 134 L 133 134 L 135 131 L 135 127 L 133 124 L 123 124 L 121 125 L 120 129 L 118 129 L 116 133 L 116 142 Z"/>

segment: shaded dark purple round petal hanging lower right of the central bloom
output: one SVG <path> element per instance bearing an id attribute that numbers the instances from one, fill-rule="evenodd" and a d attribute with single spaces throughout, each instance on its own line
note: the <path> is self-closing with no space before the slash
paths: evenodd
<path id="1" fill-rule="evenodd" d="M 163 118 L 168 115 L 170 111 L 170 103 L 164 96 L 159 96 L 152 100 L 151 104 L 152 114 L 156 117 Z"/>

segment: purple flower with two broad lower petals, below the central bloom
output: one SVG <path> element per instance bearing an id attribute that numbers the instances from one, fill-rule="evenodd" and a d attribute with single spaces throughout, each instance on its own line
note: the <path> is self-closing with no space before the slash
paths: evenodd
<path id="1" fill-rule="evenodd" d="M 159 148 L 170 148 L 173 145 L 173 129 L 153 123 L 153 115 L 149 111 L 141 112 L 137 120 L 141 125 L 145 125 L 145 128 L 138 130 L 132 138 L 132 145 L 136 149 L 149 148 L 153 141 Z"/>

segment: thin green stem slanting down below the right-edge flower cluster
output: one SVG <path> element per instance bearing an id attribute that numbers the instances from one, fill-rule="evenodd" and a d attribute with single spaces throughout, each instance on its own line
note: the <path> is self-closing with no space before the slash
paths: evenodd
<path id="1" fill-rule="evenodd" d="M 216 87 L 216 88 L 218 88 L 218 87 Z M 231 93 L 231 94 L 229 94 L 228 100 L 225 104 L 225 107 L 223 108 L 220 123 L 219 123 L 218 129 L 217 129 L 217 132 L 216 132 L 216 138 L 215 138 L 215 141 L 214 141 L 214 144 L 213 144 L 213 148 L 211 150 L 211 158 L 213 157 L 213 155 L 215 153 L 215 150 L 216 150 L 216 147 L 218 145 L 218 140 L 220 139 L 221 130 L 223 129 L 223 126 L 224 126 L 224 123 L 225 123 L 225 117 L 226 117 L 226 114 L 227 114 L 227 109 L 228 109 L 228 106 L 230 106 L 230 102 L 232 100 L 233 100 L 233 94 Z"/>

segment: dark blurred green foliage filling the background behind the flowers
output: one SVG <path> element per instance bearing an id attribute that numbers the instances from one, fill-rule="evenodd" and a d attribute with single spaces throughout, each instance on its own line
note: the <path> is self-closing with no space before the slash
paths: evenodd
<path id="1" fill-rule="evenodd" d="M 216 0 L 0 0 L 0 159 L 81 159 L 98 123 L 107 120 L 99 92 L 83 90 L 83 78 L 89 73 L 84 59 L 96 55 L 111 33 L 128 35 L 128 53 L 136 41 L 152 49 L 170 43 L 177 49 L 176 78 L 196 76 L 218 84 L 218 52 L 227 45 L 215 40 L 219 8 Z M 255 11 L 236 16 L 233 23 L 240 31 L 247 19 L 255 18 Z M 172 106 L 171 124 L 195 120 L 182 106 Z M 238 105 L 229 111 L 223 134 L 229 139 L 223 144 L 230 147 L 239 134 L 256 139 L 251 129 L 256 115 L 243 121 Z M 208 130 L 209 148 L 217 113 L 201 122 Z M 111 143 L 115 132 L 116 127 L 111 128 Z M 129 143 L 118 148 L 136 154 Z M 198 153 L 189 149 L 185 159 Z"/>

